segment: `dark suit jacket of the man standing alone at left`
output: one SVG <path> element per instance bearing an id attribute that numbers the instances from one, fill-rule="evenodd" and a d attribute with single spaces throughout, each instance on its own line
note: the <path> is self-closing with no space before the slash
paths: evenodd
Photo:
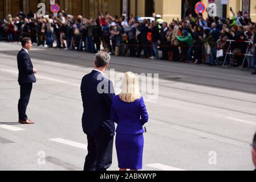
<path id="1" fill-rule="evenodd" d="M 34 83 L 36 82 L 35 75 L 33 73 L 33 65 L 29 54 L 21 49 L 17 55 L 19 78 L 20 83 Z"/>

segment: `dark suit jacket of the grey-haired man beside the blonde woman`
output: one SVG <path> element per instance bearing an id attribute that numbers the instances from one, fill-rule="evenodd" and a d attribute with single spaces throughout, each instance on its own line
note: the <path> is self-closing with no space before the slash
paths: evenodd
<path id="1" fill-rule="evenodd" d="M 83 77 L 81 93 L 84 107 L 82 118 L 84 133 L 90 137 L 97 137 L 101 127 L 109 135 L 115 135 L 115 124 L 110 121 L 112 97 L 115 96 L 112 82 L 100 72 L 92 71 Z"/>

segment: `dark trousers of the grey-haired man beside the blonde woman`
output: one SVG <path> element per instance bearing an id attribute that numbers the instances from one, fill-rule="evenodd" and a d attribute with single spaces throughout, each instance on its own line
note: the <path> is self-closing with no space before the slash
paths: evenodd
<path id="1" fill-rule="evenodd" d="M 101 129 L 98 137 L 87 136 L 88 155 L 84 171 L 107 171 L 112 164 L 113 137 Z"/>

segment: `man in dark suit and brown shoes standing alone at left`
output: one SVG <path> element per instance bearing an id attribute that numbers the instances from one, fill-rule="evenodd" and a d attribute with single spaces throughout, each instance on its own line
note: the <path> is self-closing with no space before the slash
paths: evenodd
<path id="1" fill-rule="evenodd" d="M 29 56 L 29 50 L 32 47 L 30 38 L 23 38 L 22 49 L 17 55 L 19 78 L 18 82 L 21 86 L 21 97 L 19 99 L 19 123 L 21 124 L 34 124 L 35 122 L 29 120 L 26 115 L 27 105 L 29 104 L 30 94 L 32 90 L 32 83 L 36 82 L 35 73 L 36 69 L 33 68 Z"/>

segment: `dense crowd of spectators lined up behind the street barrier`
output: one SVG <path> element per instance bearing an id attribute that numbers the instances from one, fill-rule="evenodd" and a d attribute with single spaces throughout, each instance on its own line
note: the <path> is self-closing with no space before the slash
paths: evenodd
<path id="1" fill-rule="evenodd" d="M 209 16 L 204 19 L 202 14 L 196 17 L 189 14 L 169 24 L 155 13 L 144 19 L 108 13 L 87 19 L 65 11 L 58 17 L 32 12 L 26 15 L 21 11 L 14 18 L 7 15 L 0 20 L 0 41 L 19 42 L 30 37 L 33 44 L 41 47 L 55 45 L 55 48 L 91 53 L 103 48 L 116 56 L 254 69 L 255 23 L 241 11 L 237 14 L 231 8 L 230 11 L 231 19 Z"/>

